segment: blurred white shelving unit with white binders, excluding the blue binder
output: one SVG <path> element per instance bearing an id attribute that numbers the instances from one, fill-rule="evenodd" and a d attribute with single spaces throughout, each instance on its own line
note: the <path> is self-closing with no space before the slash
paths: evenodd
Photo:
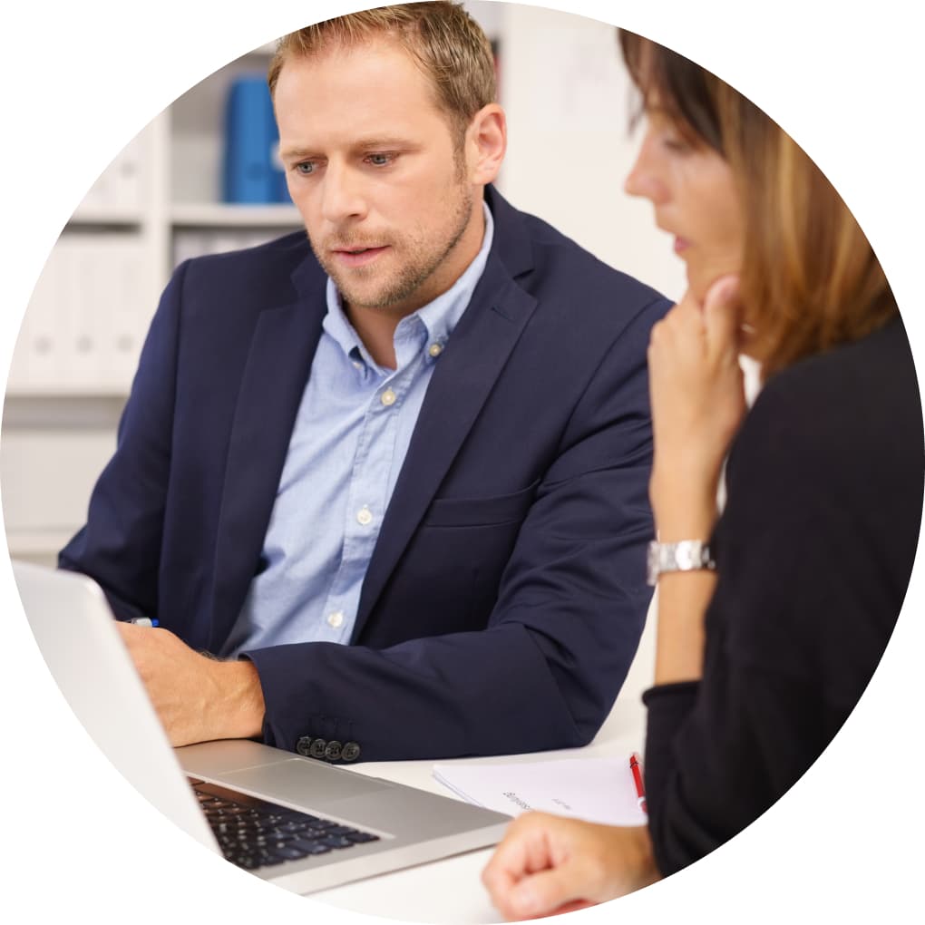
<path id="1" fill-rule="evenodd" d="M 83 523 L 115 449 L 144 333 L 179 259 L 302 228 L 291 204 L 220 201 L 228 89 L 241 74 L 265 75 L 272 53 L 264 46 L 231 62 L 155 118 L 62 231 L 6 389 L 0 485 L 14 557 L 53 562 Z"/>

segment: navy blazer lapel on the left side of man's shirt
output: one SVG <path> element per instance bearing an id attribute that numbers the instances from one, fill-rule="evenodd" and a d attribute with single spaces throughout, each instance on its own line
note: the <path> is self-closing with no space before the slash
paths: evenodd
<path id="1" fill-rule="evenodd" d="M 256 572 L 321 336 L 325 277 L 305 269 L 293 276 L 302 298 L 258 317 L 244 367 L 218 519 L 210 648 L 228 637 Z"/>

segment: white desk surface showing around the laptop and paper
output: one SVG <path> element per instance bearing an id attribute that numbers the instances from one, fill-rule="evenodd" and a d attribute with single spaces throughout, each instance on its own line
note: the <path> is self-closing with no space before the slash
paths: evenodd
<path id="1" fill-rule="evenodd" d="M 642 730 L 638 715 L 635 713 L 627 717 L 623 710 L 615 709 L 595 740 L 585 748 L 440 763 L 508 764 L 518 761 L 628 756 L 638 751 L 641 745 Z M 448 788 L 434 780 L 434 763 L 379 761 L 360 764 L 352 770 L 396 783 L 407 783 L 442 796 L 454 796 Z M 430 864 L 349 883 L 313 894 L 312 898 L 351 912 L 406 922 L 440 922 L 447 925 L 500 922 L 503 919 L 489 903 L 480 879 L 489 857 L 490 848 L 470 851 Z"/>

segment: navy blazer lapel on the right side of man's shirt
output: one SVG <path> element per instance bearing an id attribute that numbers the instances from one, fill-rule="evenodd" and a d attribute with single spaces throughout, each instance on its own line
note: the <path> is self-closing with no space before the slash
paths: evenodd
<path id="1" fill-rule="evenodd" d="M 493 249 L 440 355 L 364 579 L 355 640 L 507 362 L 536 299 Z"/>

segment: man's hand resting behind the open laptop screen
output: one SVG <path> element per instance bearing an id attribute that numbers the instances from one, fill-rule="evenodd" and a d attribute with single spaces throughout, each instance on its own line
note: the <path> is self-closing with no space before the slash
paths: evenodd
<path id="1" fill-rule="evenodd" d="M 264 693 L 250 661 L 216 661 L 164 629 L 117 623 L 170 744 L 254 738 Z"/>

